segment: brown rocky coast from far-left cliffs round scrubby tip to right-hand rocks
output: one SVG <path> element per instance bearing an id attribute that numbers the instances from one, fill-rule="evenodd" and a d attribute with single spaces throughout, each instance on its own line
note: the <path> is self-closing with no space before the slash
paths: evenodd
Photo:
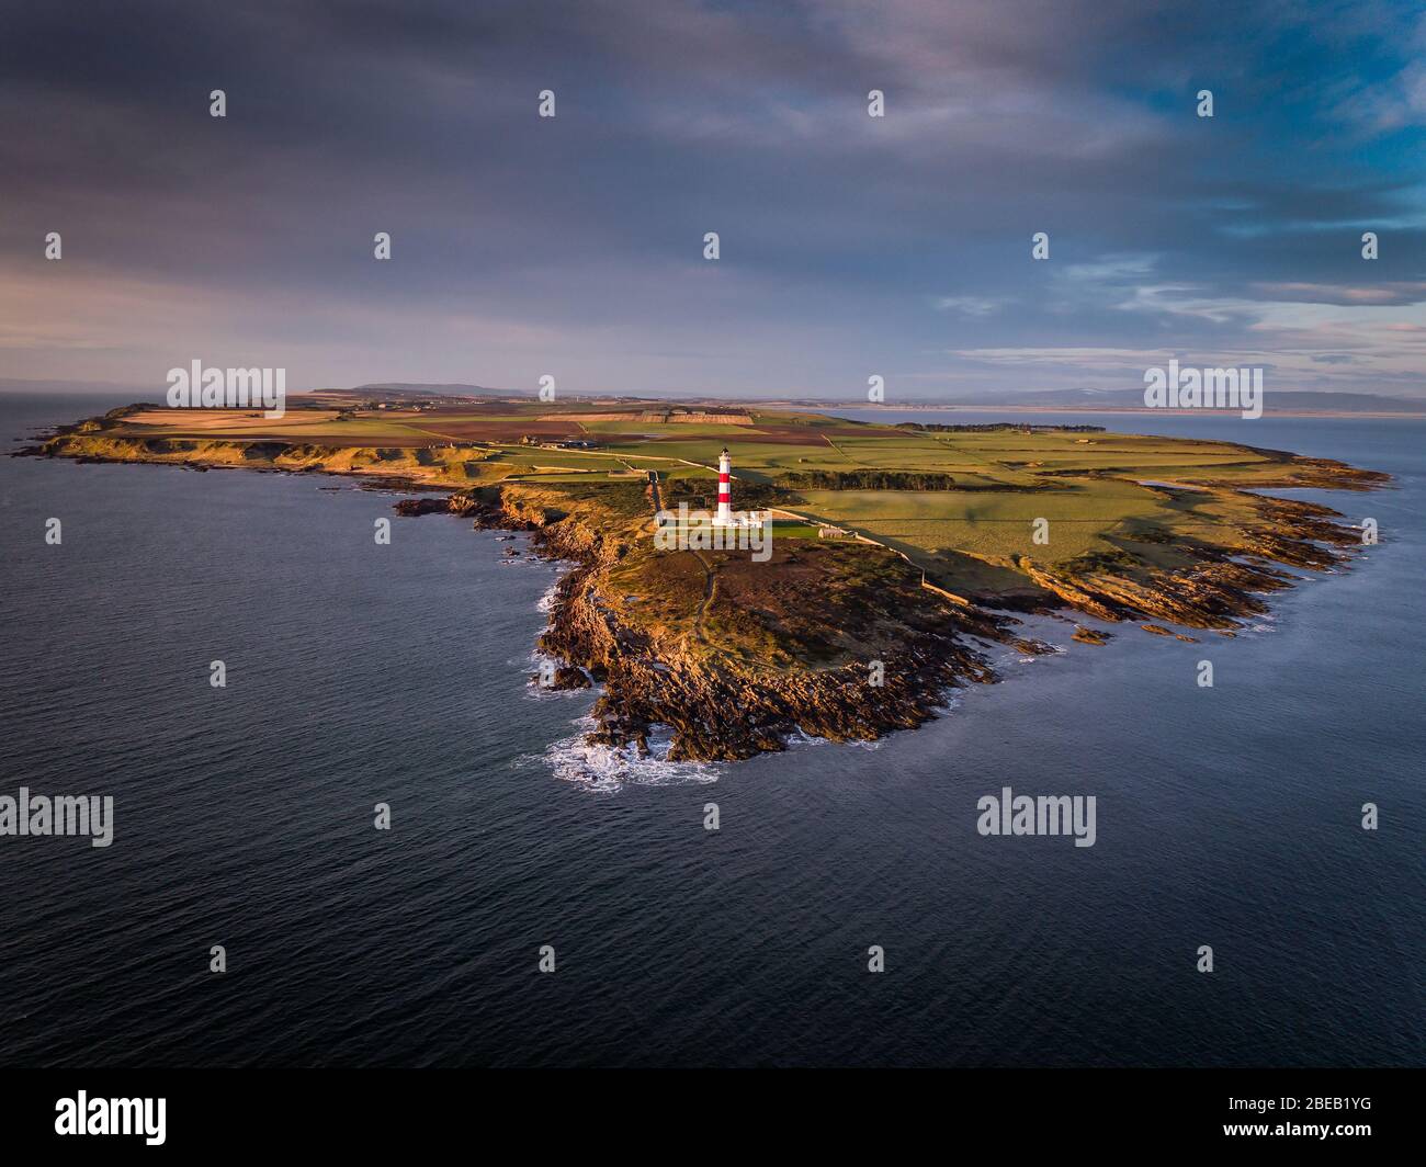
<path id="1" fill-rule="evenodd" d="M 347 455 L 342 461 L 331 449 L 297 444 L 121 439 L 106 432 L 104 419 L 64 427 L 43 445 L 17 454 L 358 475 L 366 485 L 412 491 L 412 496 L 395 504 L 399 515 L 453 514 L 479 529 L 529 532 L 535 554 L 572 565 L 556 584 L 550 619 L 539 639 L 542 652 L 562 663 L 539 683 L 552 689 L 602 686 L 589 740 L 643 753 L 653 732 L 667 728 L 670 760 L 746 759 L 784 749 L 796 735 L 871 740 L 915 728 L 944 709 L 950 689 L 998 679 L 987 656 L 991 645 L 1031 655 L 1052 651 L 1020 635 L 1020 621 L 1007 611 L 1011 602 L 1024 612 L 1134 622 L 1181 641 L 1195 638 L 1162 625 L 1231 636 L 1243 619 L 1266 611 L 1265 595 L 1293 585 L 1295 576 L 1285 568 L 1332 568 L 1349 558 L 1348 548 L 1360 545 L 1359 532 L 1343 525 L 1330 508 L 1246 495 L 1259 522 L 1232 554 L 1208 542 L 1139 531 L 1135 541 L 1171 544 L 1188 565 L 1149 571 L 1144 561 L 1127 554 L 1089 555 L 1068 564 L 1017 556 L 1017 569 L 1035 592 L 1028 601 L 1024 595 L 1014 601 L 1007 596 L 1005 603 L 994 595 L 948 602 L 945 593 L 923 586 L 908 562 L 876 546 L 814 545 L 787 552 L 787 581 L 804 571 L 800 559 L 816 556 L 826 565 L 827 556 L 843 556 L 858 561 L 871 582 L 850 584 L 841 601 L 834 601 L 817 592 L 814 576 L 806 603 L 817 609 L 813 625 L 826 625 L 829 643 L 821 643 L 816 629 L 799 626 L 796 635 L 783 631 L 797 625 L 789 613 L 796 615 L 799 605 L 791 603 L 781 612 L 781 622 L 770 619 L 769 626 L 776 629 L 769 633 L 770 642 L 754 639 L 764 648 L 749 652 L 730 648 L 736 635 L 713 643 L 703 632 L 703 613 L 719 595 L 717 581 L 732 566 L 727 562 L 709 565 L 699 556 L 709 582 L 696 635 L 687 628 L 670 631 L 667 621 L 633 602 L 640 596 L 626 595 L 630 588 L 657 593 L 665 586 L 659 579 L 665 571 L 662 554 L 652 549 L 647 536 L 653 511 L 647 495 L 619 511 L 602 495 L 580 498 L 578 492 L 528 482 L 451 491 L 449 485 L 419 477 L 419 458 L 406 464 L 382 457 L 379 449 L 369 461 L 349 457 L 351 449 L 337 451 Z M 1385 475 L 1323 459 L 1302 462 L 1316 486 L 1372 489 L 1386 481 Z M 1283 485 L 1303 482 L 1286 479 Z M 434 492 L 438 489 L 441 494 Z M 1215 489 L 1238 502 L 1245 498 L 1232 486 Z M 777 578 L 781 586 L 784 581 Z M 732 606 L 759 611 L 769 602 Z M 1072 639 L 1102 645 L 1109 635 L 1077 623 Z"/>

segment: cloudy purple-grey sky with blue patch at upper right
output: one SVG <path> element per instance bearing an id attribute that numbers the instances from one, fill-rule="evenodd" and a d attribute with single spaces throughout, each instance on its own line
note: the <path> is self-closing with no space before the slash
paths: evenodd
<path id="1" fill-rule="evenodd" d="M 1399 1 L 0 0 L 0 377 L 1420 394 L 1423 126 Z"/>

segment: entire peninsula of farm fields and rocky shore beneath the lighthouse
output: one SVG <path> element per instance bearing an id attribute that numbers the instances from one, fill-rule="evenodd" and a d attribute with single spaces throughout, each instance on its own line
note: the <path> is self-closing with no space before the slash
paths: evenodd
<path id="1" fill-rule="evenodd" d="M 1387 481 L 1232 442 L 887 417 L 331 391 L 281 418 L 127 405 L 20 452 L 359 475 L 411 489 L 401 514 L 530 531 L 573 564 L 545 682 L 602 686 L 592 739 L 643 750 L 666 726 L 673 759 L 917 726 L 948 688 L 995 679 L 991 645 L 1050 651 L 1017 613 L 1091 645 L 1105 623 L 1233 635 L 1295 572 L 1362 545 L 1338 512 L 1259 492 Z M 702 515 L 766 548 L 657 538 Z"/>

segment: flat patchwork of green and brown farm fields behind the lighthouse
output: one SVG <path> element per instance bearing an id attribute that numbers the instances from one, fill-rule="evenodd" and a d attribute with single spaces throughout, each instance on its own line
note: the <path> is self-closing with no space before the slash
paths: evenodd
<path id="1" fill-rule="evenodd" d="M 1231 549 L 1253 521 L 1251 499 L 1231 488 L 1282 485 L 1296 474 L 1291 455 L 1148 435 L 921 431 L 723 407 L 724 414 L 742 415 L 732 424 L 709 421 L 714 407 L 670 414 L 684 407 L 646 402 L 375 409 L 328 397 L 335 399 L 324 399 L 324 408 L 289 405 L 275 421 L 241 411 L 144 411 L 118 419 L 106 438 L 292 442 L 301 451 L 285 457 L 305 459 L 308 468 L 389 468 L 441 485 L 513 481 L 582 495 L 639 491 L 647 471 L 665 481 L 712 479 L 727 445 L 734 508 L 776 505 L 803 516 L 780 526 L 779 536 L 816 538 L 817 524 L 834 524 L 950 582 L 970 576 L 1004 582 L 1004 572 L 1024 555 L 1055 564 L 1132 548 L 1147 561 L 1171 562 L 1174 552 L 1165 545 L 1172 536 Z M 663 419 L 679 415 L 694 419 Z M 560 442 L 593 447 L 560 448 Z M 950 475 L 954 482 L 951 489 L 807 489 L 781 481 L 790 474 L 881 471 Z M 1164 489 L 1139 479 L 1206 489 Z M 1044 521 L 1038 531 L 1037 521 Z"/>

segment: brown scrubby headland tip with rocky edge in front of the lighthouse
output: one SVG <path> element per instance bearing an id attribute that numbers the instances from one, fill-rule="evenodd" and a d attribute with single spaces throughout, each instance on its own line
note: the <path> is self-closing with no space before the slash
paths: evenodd
<path id="1" fill-rule="evenodd" d="M 783 611 L 759 609 L 779 641 L 776 652 L 759 655 L 749 651 L 756 635 L 723 625 L 742 605 L 716 592 L 709 596 L 702 585 L 680 586 L 677 572 L 655 568 L 660 552 L 647 549 L 642 519 L 622 524 L 597 508 L 562 509 L 555 501 L 508 485 L 452 495 L 443 509 L 473 516 L 476 526 L 532 531 L 539 554 L 572 565 L 556 585 L 539 648 L 573 666 L 556 673 L 549 688 L 582 688 L 589 679 L 603 688 L 593 708 L 596 743 L 643 752 L 650 732 L 666 726 L 673 738 L 670 759 L 734 760 L 780 750 L 797 733 L 871 740 L 935 716 L 947 689 L 994 682 L 973 639 L 1027 653 L 1050 651 L 1017 636 L 1014 618 L 938 601 L 894 556 L 844 546 L 834 554 L 807 548 L 800 562 L 794 552 L 759 566 L 804 569 L 804 585 L 833 584 L 821 591 L 816 623 L 820 631 L 837 629 L 846 643 L 813 643 L 817 629 L 784 623 L 799 601 L 794 586 Z M 436 499 L 404 501 L 398 508 L 442 509 Z M 736 552 L 723 555 L 724 589 L 737 589 L 752 572 L 736 569 Z M 848 555 L 857 561 L 851 572 L 844 562 L 816 562 Z M 646 596 L 629 591 L 640 581 L 659 591 L 656 612 L 643 603 Z M 706 599 L 712 603 L 704 606 Z M 763 596 L 764 605 L 773 602 Z M 817 661 L 809 666 L 799 656 Z"/>

